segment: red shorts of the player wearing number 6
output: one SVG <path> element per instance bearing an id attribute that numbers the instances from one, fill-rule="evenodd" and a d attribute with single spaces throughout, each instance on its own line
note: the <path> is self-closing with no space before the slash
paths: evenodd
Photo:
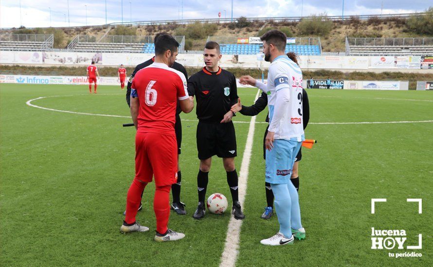
<path id="1" fill-rule="evenodd" d="M 178 147 L 176 136 L 140 133 L 135 135 L 135 178 L 164 186 L 178 180 Z"/>

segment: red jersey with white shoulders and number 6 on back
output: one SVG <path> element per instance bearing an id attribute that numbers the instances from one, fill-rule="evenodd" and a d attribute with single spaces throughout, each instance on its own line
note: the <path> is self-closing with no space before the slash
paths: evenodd
<path id="1" fill-rule="evenodd" d="M 162 63 L 153 63 L 134 76 L 131 97 L 138 97 L 138 132 L 175 135 L 177 100 L 188 98 L 183 73 Z"/>

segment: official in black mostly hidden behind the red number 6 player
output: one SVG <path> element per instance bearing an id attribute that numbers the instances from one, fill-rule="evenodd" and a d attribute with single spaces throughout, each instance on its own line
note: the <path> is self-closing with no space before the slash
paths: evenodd
<path id="1" fill-rule="evenodd" d="M 155 38 L 153 40 L 155 44 L 156 44 L 156 40 L 158 39 L 158 37 L 160 37 L 162 35 L 170 35 L 170 34 L 168 34 L 168 33 L 156 34 Z M 155 57 L 137 65 L 137 67 L 135 67 L 134 72 L 132 73 L 131 77 L 129 77 L 128 84 L 126 86 L 126 103 L 128 104 L 128 106 L 130 106 L 132 79 L 134 78 L 137 71 L 139 71 L 140 69 L 142 69 L 144 67 L 151 65 L 154 61 L 155 61 Z M 182 72 L 185 75 L 186 80 L 188 81 L 188 73 L 186 72 L 185 67 L 183 67 L 181 64 L 179 64 L 177 62 L 175 62 L 173 64 L 173 66 L 171 66 L 171 67 Z M 171 186 L 171 193 L 173 195 L 173 203 L 171 204 L 171 209 L 174 210 L 177 214 L 185 215 L 186 214 L 185 207 L 184 207 L 185 204 L 180 202 L 181 173 L 180 173 L 180 166 L 179 166 L 179 154 L 180 154 L 180 146 L 182 143 L 182 124 L 180 122 L 180 116 L 179 116 L 180 112 L 181 112 L 181 110 L 180 110 L 179 101 L 178 101 L 178 105 L 176 107 L 176 124 L 175 124 L 176 140 L 178 142 L 178 181 L 176 184 L 172 184 L 172 186 Z M 141 207 L 142 207 L 142 205 L 140 205 L 139 210 L 141 210 Z"/>

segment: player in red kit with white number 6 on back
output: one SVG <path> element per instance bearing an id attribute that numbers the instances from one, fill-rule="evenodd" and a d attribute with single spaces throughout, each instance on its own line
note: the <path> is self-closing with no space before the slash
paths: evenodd
<path id="1" fill-rule="evenodd" d="M 135 136 L 135 178 L 126 197 L 126 216 L 120 232 L 146 232 L 135 217 L 144 187 L 155 177 L 153 209 L 157 242 L 174 241 L 185 235 L 168 229 L 170 189 L 177 183 L 177 143 L 174 130 L 176 105 L 189 113 L 194 108 L 188 96 L 186 78 L 170 66 L 176 60 L 179 43 L 171 35 L 160 36 L 155 44 L 155 62 L 139 70 L 131 85 L 131 116 Z"/>

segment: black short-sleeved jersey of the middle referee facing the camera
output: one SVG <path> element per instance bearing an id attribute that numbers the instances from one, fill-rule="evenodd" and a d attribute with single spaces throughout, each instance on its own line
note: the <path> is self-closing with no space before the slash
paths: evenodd
<path id="1" fill-rule="evenodd" d="M 188 79 L 188 94 L 196 96 L 199 121 L 220 123 L 237 103 L 235 75 L 220 67 L 217 72 L 210 72 L 203 67 Z"/>

